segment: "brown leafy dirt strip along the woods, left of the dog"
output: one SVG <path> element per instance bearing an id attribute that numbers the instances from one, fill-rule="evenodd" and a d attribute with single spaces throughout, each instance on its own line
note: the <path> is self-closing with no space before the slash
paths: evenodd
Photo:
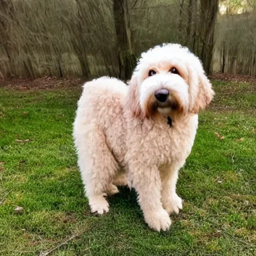
<path id="1" fill-rule="evenodd" d="M 28 78 L 10 78 L 0 80 L 0 87 L 17 90 L 33 90 L 33 89 L 65 89 L 80 88 L 85 82 L 82 78 L 57 78 L 45 76 L 30 80 Z"/>

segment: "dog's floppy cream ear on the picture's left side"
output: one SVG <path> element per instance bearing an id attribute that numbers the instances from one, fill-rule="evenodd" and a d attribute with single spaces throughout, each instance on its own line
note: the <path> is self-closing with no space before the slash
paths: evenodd
<path id="1" fill-rule="evenodd" d="M 139 104 L 137 78 L 133 75 L 128 83 L 128 94 L 126 100 L 126 107 L 130 109 L 133 116 L 140 119 L 145 118 L 145 114 Z"/>

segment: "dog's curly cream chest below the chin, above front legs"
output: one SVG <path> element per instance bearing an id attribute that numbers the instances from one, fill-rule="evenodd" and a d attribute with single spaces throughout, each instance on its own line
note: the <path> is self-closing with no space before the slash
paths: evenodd
<path id="1" fill-rule="evenodd" d="M 152 164 L 183 162 L 189 155 L 197 129 L 197 115 L 180 123 L 143 123 L 133 129 L 136 154 Z M 131 142 L 131 141 L 130 141 Z"/>

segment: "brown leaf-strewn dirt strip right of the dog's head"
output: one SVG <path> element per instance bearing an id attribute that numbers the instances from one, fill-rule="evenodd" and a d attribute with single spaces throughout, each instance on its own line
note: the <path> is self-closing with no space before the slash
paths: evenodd
<path id="1" fill-rule="evenodd" d="M 232 81 L 232 82 L 247 82 L 256 84 L 256 77 L 245 74 L 230 74 L 230 73 L 214 73 L 209 75 L 211 80 Z"/>

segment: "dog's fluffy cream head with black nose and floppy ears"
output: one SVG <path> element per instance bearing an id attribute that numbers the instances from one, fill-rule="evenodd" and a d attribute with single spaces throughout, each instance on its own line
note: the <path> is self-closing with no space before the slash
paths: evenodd
<path id="1" fill-rule="evenodd" d="M 213 95 L 200 60 L 186 47 L 167 43 L 141 54 L 129 81 L 127 107 L 141 119 L 197 113 Z"/>

